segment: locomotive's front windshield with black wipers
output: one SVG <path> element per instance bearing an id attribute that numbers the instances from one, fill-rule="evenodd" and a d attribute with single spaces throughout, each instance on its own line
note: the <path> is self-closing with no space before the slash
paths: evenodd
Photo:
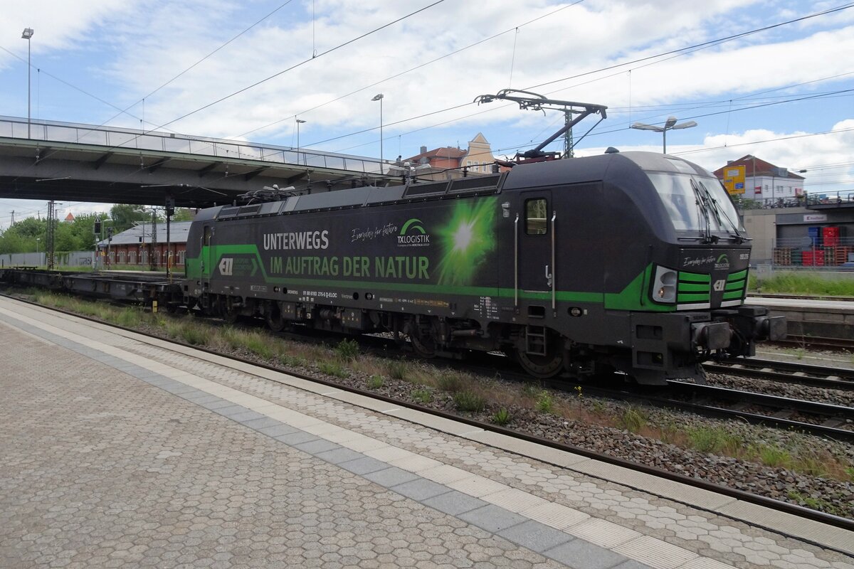
<path id="1" fill-rule="evenodd" d="M 739 235 L 738 214 L 716 177 L 646 172 L 677 231 Z"/>

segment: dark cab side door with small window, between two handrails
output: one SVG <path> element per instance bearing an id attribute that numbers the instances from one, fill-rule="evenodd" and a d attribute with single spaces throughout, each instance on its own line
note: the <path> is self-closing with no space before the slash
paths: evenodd
<path id="1" fill-rule="evenodd" d="M 525 192 L 521 198 L 516 251 L 519 288 L 548 292 L 554 283 L 552 192 Z"/>

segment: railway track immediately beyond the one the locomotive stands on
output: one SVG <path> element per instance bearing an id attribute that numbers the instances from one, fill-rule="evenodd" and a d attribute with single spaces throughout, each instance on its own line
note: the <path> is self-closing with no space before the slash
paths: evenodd
<path id="1" fill-rule="evenodd" d="M 706 362 L 703 369 L 717 374 L 742 375 L 801 386 L 854 391 L 854 369 L 829 368 L 800 362 L 750 358 Z"/>

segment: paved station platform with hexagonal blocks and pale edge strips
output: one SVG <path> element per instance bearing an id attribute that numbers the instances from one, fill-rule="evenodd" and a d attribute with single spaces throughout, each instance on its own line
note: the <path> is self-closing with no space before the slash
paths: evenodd
<path id="1" fill-rule="evenodd" d="M 8 299 L 0 345 L 0 567 L 854 569 L 851 532 Z"/>

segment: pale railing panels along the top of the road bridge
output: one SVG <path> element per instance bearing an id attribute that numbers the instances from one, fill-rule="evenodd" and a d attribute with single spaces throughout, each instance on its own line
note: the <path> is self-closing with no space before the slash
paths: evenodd
<path id="1" fill-rule="evenodd" d="M 27 136 L 29 132 L 29 136 Z M 75 142 L 107 148 L 138 148 L 182 154 L 260 160 L 277 164 L 293 164 L 380 174 L 388 169 L 388 160 L 335 154 L 274 146 L 251 142 L 223 140 L 205 136 L 187 136 L 170 132 L 137 131 L 115 127 L 79 125 L 48 120 L 33 120 L 0 116 L 0 138 L 22 138 L 44 142 Z M 383 165 L 386 165 L 383 168 Z"/>

